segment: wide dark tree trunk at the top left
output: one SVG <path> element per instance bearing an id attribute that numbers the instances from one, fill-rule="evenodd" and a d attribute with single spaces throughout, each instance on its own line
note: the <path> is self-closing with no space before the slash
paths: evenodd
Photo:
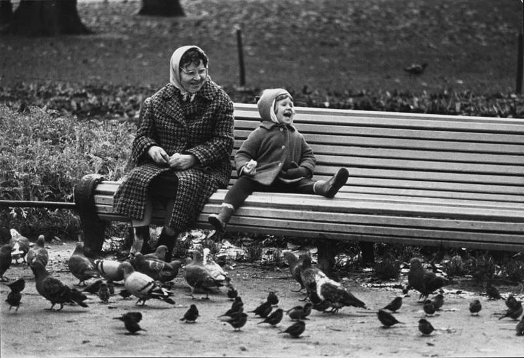
<path id="1" fill-rule="evenodd" d="M 80 20 L 77 0 L 21 0 L 5 32 L 23 36 L 92 33 Z"/>

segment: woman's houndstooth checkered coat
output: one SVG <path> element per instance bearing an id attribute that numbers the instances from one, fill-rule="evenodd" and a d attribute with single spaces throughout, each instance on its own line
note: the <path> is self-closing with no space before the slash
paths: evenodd
<path id="1" fill-rule="evenodd" d="M 192 102 L 183 101 L 180 91 L 167 84 L 146 99 L 140 118 L 130 157 L 134 167 L 114 195 L 115 211 L 142 220 L 149 183 L 169 171 L 178 178 L 169 226 L 182 232 L 193 224 L 211 194 L 225 188 L 230 179 L 233 102 L 210 77 Z M 156 164 L 147 154 L 153 145 L 169 156 L 193 154 L 200 163 L 187 170 Z"/>

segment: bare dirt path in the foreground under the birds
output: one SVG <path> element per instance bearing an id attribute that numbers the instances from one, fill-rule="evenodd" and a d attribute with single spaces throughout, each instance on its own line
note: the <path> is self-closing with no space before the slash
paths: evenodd
<path id="1" fill-rule="evenodd" d="M 74 242 L 51 244 L 48 270 L 64 283 L 73 285 L 78 280 L 68 272 L 67 260 Z M 253 310 L 265 301 L 269 291 L 276 291 L 279 307 L 289 309 L 302 304 L 303 297 L 296 290 L 298 284 L 287 269 L 262 270 L 257 264 L 238 263 L 229 271 L 232 281 L 244 301 L 245 311 Z M 418 319 L 424 315 L 418 294 L 410 292 L 396 314 L 405 322 L 385 329 L 376 317 L 376 310 L 401 290 L 384 283 L 370 285 L 367 273 L 352 274 L 343 280 L 367 310 L 344 307 L 338 314 L 313 311 L 306 321 L 302 336 L 293 339 L 280 331 L 292 324 L 285 316 L 273 328 L 257 325 L 260 320 L 249 313 L 247 324 L 241 331 L 217 319 L 231 307 L 225 288 L 210 295 L 208 301 L 185 295 L 189 286 L 183 271 L 174 280 L 174 299 L 171 306 L 162 301 L 150 300 L 145 306 L 135 306 L 135 299 L 112 296 L 103 304 L 96 295 L 89 295 L 89 308 L 64 306 L 61 312 L 44 310 L 50 304 L 36 292 L 35 281 L 25 264 L 12 265 L 6 276 L 13 280 L 24 278 L 22 304 L 18 311 L 1 305 L 1 353 L 3 357 L 45 356 L 524 356 L 524 337 L 515 334 L 516 321 L 498 319 L 505 304 L 489 301 L 475 289 L 464 290 L 465 283 L 447 286 L 443 309 L 429 317 L 436 328 L 430 336 L 418 331 Z M 401 281 L 406 280 L 405 276 Z M 92 282 L 93 280 L 91 280 Z M 385 287 L 386 286 L 386 287 Z M 471 287 L 471 284 L 469 285 Z M 122 286 L 116 286 L 119 292 Z M 481 290 L 480 287 L 478 287 Z M 5 300 L 9 288 L 0 287 Z M 515 292 L 518 293 L 518 292 Z M 483 309 L 478 317 L 471 316 L 468 305 L 473 297 L 481 300 Z M 521 295 L 517 298 L 522 299 Z M 180 321 L 190 304 L 196 304 L 200 317 L 195 324 Z M 123 322 L 112 319 L 129 310 L 138 310 L 144 318 L 140 326 L 145 332 L 135 336 L 126 333 Z"/>

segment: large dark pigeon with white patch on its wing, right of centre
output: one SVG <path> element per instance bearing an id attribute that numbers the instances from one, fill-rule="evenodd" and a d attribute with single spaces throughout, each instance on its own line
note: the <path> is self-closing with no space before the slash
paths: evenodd
<path id="1" fill-rule="evenodd" d="M 325 309 L 331 307 L 332 313 L 337 313 L 344 306 L 366 308 L 366 304 L 347 288 L 330 279 L 319 268 L 312 267 L 309 255 L 303 257 L 301 277 L 313 307 L 319 304 Z"/>

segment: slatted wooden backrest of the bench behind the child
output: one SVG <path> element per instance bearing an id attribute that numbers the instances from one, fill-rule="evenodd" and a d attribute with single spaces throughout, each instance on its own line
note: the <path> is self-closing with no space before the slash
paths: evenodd
<path id="1" fill-rule="evenodd" d="M 296 110 L 314 177 L 350 170 L 342 192 L 524 202 L 524 120 Z M 259 120 L 256 105 L 235 103 L 235 151 Z"/>

